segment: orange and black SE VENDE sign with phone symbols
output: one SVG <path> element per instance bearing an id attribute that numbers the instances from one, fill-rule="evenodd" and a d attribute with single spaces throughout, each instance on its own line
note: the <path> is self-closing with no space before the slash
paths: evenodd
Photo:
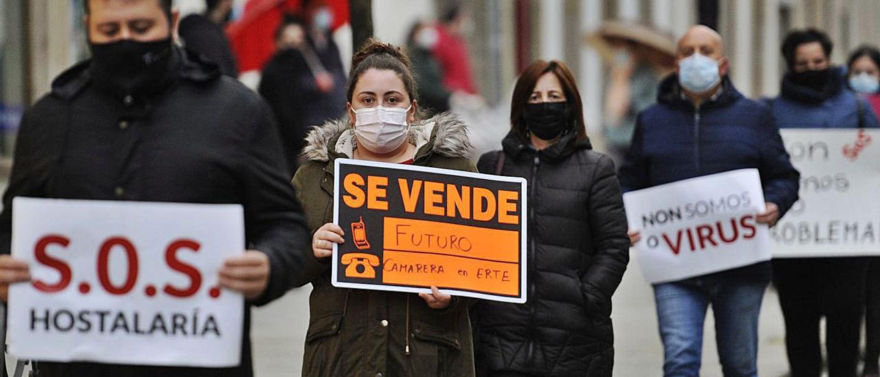
<path id="1" fill-rule="evenodd" d="M 336 159 L 333 285 L 525 302 L 522 178 Z"/>

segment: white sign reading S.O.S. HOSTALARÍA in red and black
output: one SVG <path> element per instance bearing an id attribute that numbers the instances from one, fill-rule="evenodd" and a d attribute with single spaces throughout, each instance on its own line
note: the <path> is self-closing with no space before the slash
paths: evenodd
<path id="1" fill-rule="evenodd" d="M 9 293 L 19 359 L 237 366 L 244 299 L 217 286 L 244 251 L 240 205 L 18 197 L 12 256 L 32 281 Z"/>

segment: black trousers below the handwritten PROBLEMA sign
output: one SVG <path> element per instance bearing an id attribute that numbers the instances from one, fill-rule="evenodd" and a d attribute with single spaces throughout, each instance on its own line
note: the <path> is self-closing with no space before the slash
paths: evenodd
<path id="1" fill-rule="evenodd" d="M 776 259 L 773 268 L 792 377 L 822 374 L 822 317 L 828 376 L 856 375 L 868 258 Z"/>

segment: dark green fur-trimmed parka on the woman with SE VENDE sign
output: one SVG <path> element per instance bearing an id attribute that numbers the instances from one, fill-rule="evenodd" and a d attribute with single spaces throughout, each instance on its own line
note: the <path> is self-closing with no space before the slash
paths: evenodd
<path id="1" fill-rule="evenodd" d="M 466 158 L 467 129 L 443 113 L 410 127 L 414 165 L 476 172 Z M 293 179 L 314 233 L 333 222 L 334 160 L 356 147 L 348 119 L 326 122 L 306 137 L 304 166 Z M 348 235 L 348 234 L 347 234 Z M 436 310 L 414 293 L 336 288 L 330 265 L 312 281 L 304 376 L 473 376 L 467 310 L 472 299 L 453 297 Z"/>

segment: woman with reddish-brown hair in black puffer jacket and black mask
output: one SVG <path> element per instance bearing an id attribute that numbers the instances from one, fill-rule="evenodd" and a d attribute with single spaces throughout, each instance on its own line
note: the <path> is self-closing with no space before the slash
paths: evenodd
<path id="1" fill-rule="evenodd" d="M 575 79 L 539 61 L 517 80 L 502 151 L 481 173 L 528 181 L 528 301 L 474 307 L 486 376 L 611 376 L 611 296 L 629 262 L 627 217 L 612 160 L 593 152 Z"/>

